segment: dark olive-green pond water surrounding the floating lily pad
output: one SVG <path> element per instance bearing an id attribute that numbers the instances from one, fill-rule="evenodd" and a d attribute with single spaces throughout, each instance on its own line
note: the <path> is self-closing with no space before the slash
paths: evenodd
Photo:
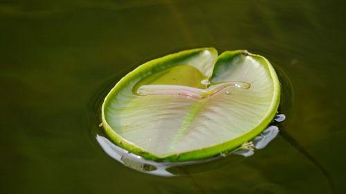
<path id="1" fill-rule="evenodd" d="M 345 1 L 1 0 L 0 193 L 346 193 L 345 18 Z M 273 63 L 284 133 L 242 162 L 184 177 L 105 154 L 95 128 L 113 84 L 201 46 Z"/>

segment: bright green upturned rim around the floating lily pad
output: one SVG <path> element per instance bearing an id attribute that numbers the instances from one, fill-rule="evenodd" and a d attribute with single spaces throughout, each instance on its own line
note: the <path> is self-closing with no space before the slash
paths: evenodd
<path id="1" fill-rule="evenodd" d="M 248 142 L 249 140 L 253 139 L 255 136 L 260 134 L 262 130 L 268 126 L 269 123 L 272 122 L 273 117 L 276 115 L 277 108 L 279 107 L 280 104 L 280 81 L 277 78 L 277 74 L 271 66 L 271 63 L 261 55 L 255 55 L 250 52 L 247 52 L 246 50 L 236 50 L 236 51 L 226 51 L 223 52 L 221 55 L 217 57 L 217 60 L 221 57 L 224 57 L 225 55 L 229 55 L 231 53 L 239 52 L 242 53 L 243 55 L 249 55 L 251 57 L 256 57 L 258 59 L 261 59 L 264 61 L 260 62 L 261 65 L 266 66 L 267 70 L 270 72 L 271 79 L 273 81 L 273 97 L 271 101 L 271 105 L 268 108 L 268 111 L 266 112 L 266 115 L 263 117 L 263 119 L 259 122 L 259 124 L 249 130 L 248 133 L 245 133 L 244 135 L 237 137 L 235 139 L 231 139 L 228 142 L 224 142 L 221 144 L 217 144 L 215 146 L 210 146 L 207 148 L 201 148 L 201 149 L 196 149 L 184 153 L 175 153 L 172 155 L 165 155 L 163 157 L 159 157 L 157 155 L 154 155 L 153 153 L 149 153 L 147 151 L 144 151 L 143 148 L 140 148 L 136 146 L 135 144 L 132 144 L 131 142 L 127 141 L 126 139 L 123 139 L 116 133 L 111 126 L 107 123 L 105 113 L 104 113 L 104 107 L 107 106 L 109 103 L 109 99 L 111 99 L 120 88 L 123 88 L 127 86 L 127 81 L 131 80 L 132 77 L 136 77 L 136 75 L 144 71 L 148 68 L 153 68 L 155 66 L 159 66 L 161 62 L 163 61 L 168 61 L 175 59 L 176 57 L 179 57 L 179 55 L 189 55 L 193 54 L 194 52 L 199 52 L 201 50 L 210 50 L 210 52 L 217 52 L 215 48 L 196 48 L 192 50 L 183 50 L 181 52 L 176 52 L 170 55 L 166 55 L 164 57 L 160 57 L 158 59 L 154 59 L 152 61 L 148 61 L 145 64 L 142 64 L 138 66 L 136 69 L 132 70 L 129 72 L 125 77 L 122 77 L 120 81 L 111 89 L 111 91 L 108 93 L 108 95 L 104 98 L 103 104 L 102 104 L 102 126 L 108 135 L 108 137 L 116 143 L 118 146 L 125 148 L 125 150 L 129 151 L 130 153 L 134 153 L 136 155 L 140 155 L 141 157 L 144 157 L 145 159 L 151 159 L 154 161 L 167 161 L 167 162 L 185 162 L 185 161 L 190 161 L 190 160 L 197 160 L 197 159 L 205 159 L 208 157 L 212 157 L 215 155 L 219 155 L 220 153 L 225 153 L 229 151 L 233 151 L 235 148 L 239 147 L 240 145 L 244 144 L 245 142 Z"/>

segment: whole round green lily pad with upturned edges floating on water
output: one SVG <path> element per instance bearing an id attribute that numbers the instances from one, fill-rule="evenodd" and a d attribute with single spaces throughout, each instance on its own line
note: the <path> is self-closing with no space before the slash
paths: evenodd
<path id="1" fill-rule="evenodd" d="M 188 161 L 235 150 L 268 126 L 280 83 L 267 59 L 246 50 L 185 50 L 123 77 L 102 104 L 118 146 L 145 159 Z"/>

